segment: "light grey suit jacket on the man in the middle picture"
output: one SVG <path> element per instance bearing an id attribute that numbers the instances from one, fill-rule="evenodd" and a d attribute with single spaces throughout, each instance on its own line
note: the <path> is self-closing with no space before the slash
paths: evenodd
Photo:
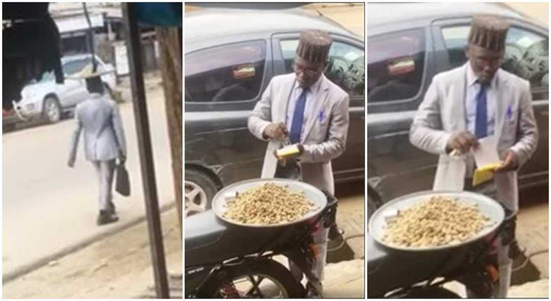
<path id="1" fill-rule="evenodd" d="M 286 74 L 272 78 L 262 94 L 255 109 L 249 117 L 249 130 L 258 139 L 266 141 L 262 133 L 272 122 L 284 122 L 289 104 L 289 95 L 295 82 L 295 74 Z M 319 189 L 334 193 L 333 170 L 331 160 L 339 157 L 346 147 L 348 135 L 348 94 L 322 75 L 320 89 L 315 95 L 316 104 L 313 111 L 305 112 L 310 118 L 305 125 L 301 143 L 304 154 L 301 155 L 300 167 L 302 180 Z M 273 150 L 278 149 L 279 141 L 269 141 L 264 155 L 262 178 L 273 178 L 276 174 L 278 160 Z"/>

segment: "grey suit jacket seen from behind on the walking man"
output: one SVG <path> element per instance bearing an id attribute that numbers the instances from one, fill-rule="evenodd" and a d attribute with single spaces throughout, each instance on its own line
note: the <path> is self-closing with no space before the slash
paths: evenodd
<path id="1" fill-rule="evenodd" d="M 84 152 L 90 161 L 106 161 L 118 157 L 119 150 L 126 156 L 125 132 L 121 114 L 114 101 L 99 94 L 77 105 L 75 128 L 71 138 L 69 160 L 77 156 L 80 132 L 84 130 Z"/>

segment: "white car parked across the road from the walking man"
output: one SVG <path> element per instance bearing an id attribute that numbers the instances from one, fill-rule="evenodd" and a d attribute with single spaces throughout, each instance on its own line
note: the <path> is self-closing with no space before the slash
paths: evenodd
<path id="1" fill-rule="evenodd" d="M 71 76 L 82 71 L 91 63 L 91 55 L 73 55 L 61 58 L 65 80 L 57 84 L 53 72 L 44 73 L 38 81 L 33 81 L 21 90 L 21 100 L 13 101 L 15 114 L 20 120 L 28 121 L 35 117 L 43 117 L 47 122 L 55 123 L 61 120 L 65 112 L 88 98 L 88 90 L 84 79 Z M 105 72 L 101 79 L 106 93 L 112 95 L 116 85 L 115 68 L 95 57 L 98 71 Z"/>

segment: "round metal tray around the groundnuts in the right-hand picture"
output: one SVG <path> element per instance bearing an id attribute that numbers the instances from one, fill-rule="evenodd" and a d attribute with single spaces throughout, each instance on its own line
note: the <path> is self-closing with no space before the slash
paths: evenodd
<path id="1" fill-rule="evenodd" d="M 488 216 L 491 219 L 491 222 L 494 222 L 494 223 L 480 230 L 480 232 L 477 233 L 477 235 L 474 235 L 474 237 L 456 244 L 431 246 L 431 247 L 404 247 L 404 246 L 388 244 L 385 241 L 382 241 L 382 235 L 385 230 L 383 227 L 385 227 L 386 225 L 385 212 L 387 212 L 387 210 L 406 209 L 414 206 L 415 204 L 421 201 L 428 200 L 431 196 L 445 196 L 450 198 L 457 198 L 459 202 L 463 202 L 463 203 L 474 202 L 477 204 L 478 210 L 483 214 L 485 214 L 486 216 Z M 422 192 L 416 192 L 416 193 L 395 198 L 394 200 L 386 203 L 385 205 L 377 209 L 377 211 L 373 213 L 373 215 L 371 216 L 371 219 L 369 220 L 369 233 L 372 235 L 372 237 L 375 239 L 377 243 L 391 250 L 399 250 L 399 251 L 447 250 L 447 249 L 458 248 L 460 246 L 467 245 L 467 244 L 473 243 L 474 241 L 487 237 L 491 233 L 495 232 L 495 230 L 499 227 L 499 225 L 503 223 L 504 219 L 505 219 L 505 211 L 503 207 L 501 207 L 501 205 L 498 202 L 492 200 L 487 196 L 480 195 L 474 192 L 468 192 L 468 191 L 422 191 Z"/>

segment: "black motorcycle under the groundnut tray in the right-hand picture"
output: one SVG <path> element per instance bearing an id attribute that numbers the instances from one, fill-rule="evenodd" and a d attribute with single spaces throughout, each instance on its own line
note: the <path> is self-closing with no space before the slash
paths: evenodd
<path id="1" fill-rule="evenodd" d="M 495 202 L 489 198 L 486 201 Z M 460 298 L 443 287 L 452 281 L 463 284 L 469 298 L 491 298 L 499 285 L 494 243 L 498 235 L 511 227 L 510 219 L 504 221 L 499 204 L 495 202 L 492 206 L 497 223 L 484 235 L 453 247 L 418 251 L 388 248 L 376 239 L 380 232 L 373 225 L 374 219 L 385 211 L 385 208 L 378 209 L 370 219 L 366 240 L 368 298 Z"/>

